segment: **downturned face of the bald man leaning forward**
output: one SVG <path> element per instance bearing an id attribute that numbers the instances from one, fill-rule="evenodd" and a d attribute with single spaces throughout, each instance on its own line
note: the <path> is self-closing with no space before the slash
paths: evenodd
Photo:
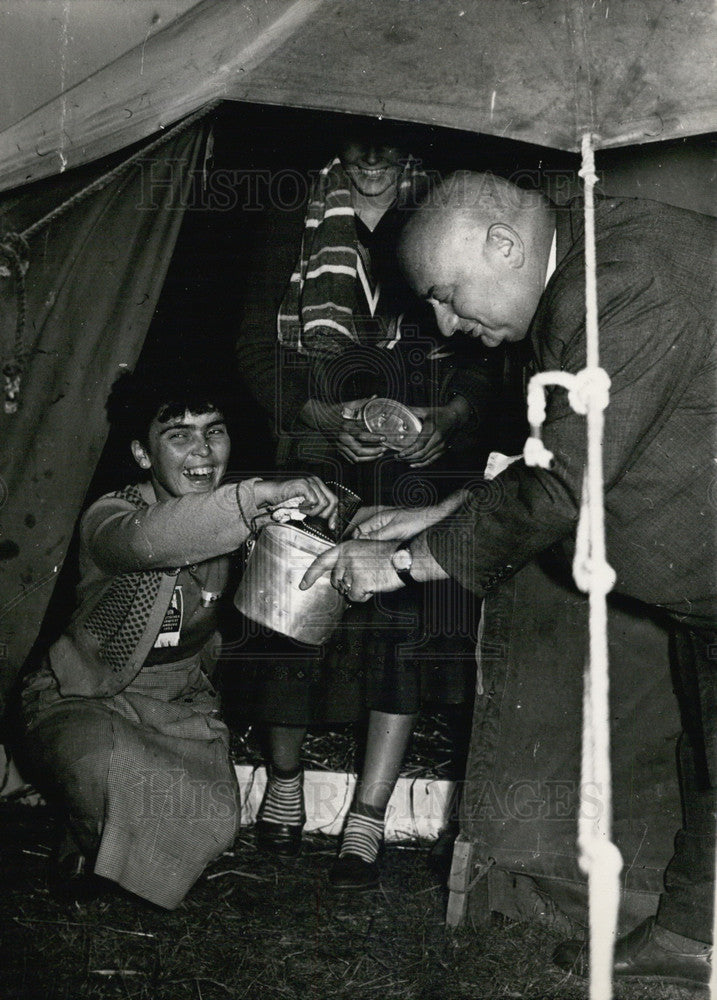
<path id="1" fill-rule="evenodd" d="M 462 333 L 497 347 L 528 332 L 542 285 L 534 269 L 524 266 L 522 242 L 510 227 L 486 231 L 459 217 L 450 224 L 409 226 L 401 261 L 445 337 Z"/>

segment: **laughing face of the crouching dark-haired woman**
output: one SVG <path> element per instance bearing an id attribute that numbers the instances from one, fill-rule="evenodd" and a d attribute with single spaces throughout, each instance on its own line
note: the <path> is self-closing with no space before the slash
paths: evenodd
<path id="1" fill-rule="evenodd" d="M 159 413 L 159 411 L 158 411 Z M 157 499 L 210 493 L 224 476 L 230 441 L 217 410 L 190 413 L 149 426 L 147 443 L 132 442 L 132 454 L 148 469 Z"/>

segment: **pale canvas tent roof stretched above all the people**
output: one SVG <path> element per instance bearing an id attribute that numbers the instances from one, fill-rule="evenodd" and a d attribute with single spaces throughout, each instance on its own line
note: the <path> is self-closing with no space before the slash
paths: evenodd
<path id="1" fill-rule="evenodd" d="M 706 133 L 717 112 L 710 0 L 657 11 L 649 0 L 30 0 L 2 16 L 4 188 L 95 159 L 220 97 L 569 150 L 585 129 L 600 147 Z M 42 65 L 38 31 L 58 48 L 60 82 L 74 85 L 17 64 L 18 53 L 37 52 Z"/>

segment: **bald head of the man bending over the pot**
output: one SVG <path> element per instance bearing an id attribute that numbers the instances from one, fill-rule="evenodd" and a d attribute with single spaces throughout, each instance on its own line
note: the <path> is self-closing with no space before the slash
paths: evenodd
<path id="1" fill-rule="evenodd" d="M 399 259 L 445 335 L 460 331 L 495 346 L 525 336 L 554 228 L 550 202 L 539 192 L 459 171 L 411 217 Z"/>

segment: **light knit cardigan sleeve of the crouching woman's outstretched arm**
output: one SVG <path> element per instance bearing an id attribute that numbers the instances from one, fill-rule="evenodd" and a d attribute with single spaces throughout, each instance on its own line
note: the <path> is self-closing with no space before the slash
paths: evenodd
<path id="1" fill-rule="evenodd" d="M 128 508 L 103 497 L 82 518 L 80 535 L 92 559 L 110 573 L 190 566 L 232 552 L 257 513 L 254 483 L 245 480 L 207 494 Z"/>

